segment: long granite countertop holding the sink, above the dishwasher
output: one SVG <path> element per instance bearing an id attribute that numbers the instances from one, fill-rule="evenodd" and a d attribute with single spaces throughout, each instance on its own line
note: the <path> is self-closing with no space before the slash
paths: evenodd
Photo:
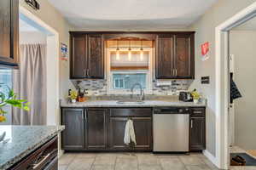
<path id="1" fill-rule="evenodd" d="M 177 106 L 177 107 L 205 107 L 207 102 L 195 104 L 193 102 L 183 101 L 163 101 L 163 100 L 144 100 L 143 104 L 128 102 L 119 104 L 117 100 L 88 100 L 86 102 L 68 103 L 61 102 L 61 107 L 160 107 L 160 106 Z"/>

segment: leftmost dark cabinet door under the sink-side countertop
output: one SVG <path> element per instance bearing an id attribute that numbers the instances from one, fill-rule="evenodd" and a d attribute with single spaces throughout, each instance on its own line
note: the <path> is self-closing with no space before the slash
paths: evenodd
<path id="1" fill-rule="evenodd" d="M 84 109 L 62 109 L 61 124 L 65 125 L 61 133 L 61 148 L 84 149 Z"/>

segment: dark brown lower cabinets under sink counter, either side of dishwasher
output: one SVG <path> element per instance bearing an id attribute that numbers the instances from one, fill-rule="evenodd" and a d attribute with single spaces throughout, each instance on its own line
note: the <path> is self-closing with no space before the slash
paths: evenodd
<path id="1" fill-rule="evenodd" d="M 125 124 L 133 121 L 137 144 L 124 143 Z M 152 151 L 151 108 L 62 108 L 63 150 Z M 206 149 L 205 108 L 191 108 L 189 150 Z"/>

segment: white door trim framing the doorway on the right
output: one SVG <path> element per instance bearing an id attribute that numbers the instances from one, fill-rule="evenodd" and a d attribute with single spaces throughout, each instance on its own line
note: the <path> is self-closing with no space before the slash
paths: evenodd
<path id="1" fill-rule="evenodd" d="M 241 10 L 229 20 L 224 21 L 215 28 L 215 53 L 216 53 L 216 163 L 223 169 L 228 169 L 230 164 L 229 150 L 229 42 L 228 31 L 250 20 L 256 13 L 256 3 Z"/>

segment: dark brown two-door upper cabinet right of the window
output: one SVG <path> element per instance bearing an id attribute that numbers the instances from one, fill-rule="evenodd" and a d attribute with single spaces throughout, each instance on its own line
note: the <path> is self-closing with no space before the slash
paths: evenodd
<path id="1" fill-rule="evenodd" d="M 195 78 L 194 33 L 160 34 L 156 41 L 157 79 Z"/>

